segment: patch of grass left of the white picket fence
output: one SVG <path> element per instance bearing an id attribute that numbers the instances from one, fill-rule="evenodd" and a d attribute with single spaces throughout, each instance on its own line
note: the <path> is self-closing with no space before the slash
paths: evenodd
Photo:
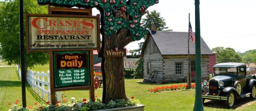
<path id="1" fill-rule="evenodd" d="M 17 67 L 0 67 L 0 110 L 8 110 L 8 103 L 14 104 L 15 100 L 22 101 L 21 81 L 18 79 Z M 44 103 L 45 100 L 26 84 L 26 103 L 33 105 L 36 101 Z"/>

